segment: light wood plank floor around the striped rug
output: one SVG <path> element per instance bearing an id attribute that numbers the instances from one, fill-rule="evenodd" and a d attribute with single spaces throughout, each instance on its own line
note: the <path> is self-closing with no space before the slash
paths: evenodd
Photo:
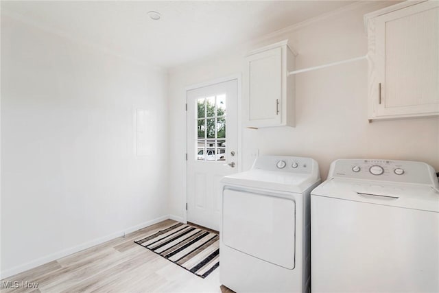
<path id="1" fill-rule="evenodd" d="M 3 292 L 230 292 L 220 288 L 219 269 L 202 279 L 134 243 L 176 223 L 165 220 L 139 231 L 51 261 L 2 280 L 38 282 L 38 289 Z"/>

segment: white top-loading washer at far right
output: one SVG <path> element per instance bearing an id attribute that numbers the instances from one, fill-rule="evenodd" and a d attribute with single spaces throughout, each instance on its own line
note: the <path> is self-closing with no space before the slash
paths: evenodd
<path id="1" fill-rule="evenodd" d="M 439 292 L 439 184 L 411 161 L 346 159 L 311 192 L 312 292 Z"/>

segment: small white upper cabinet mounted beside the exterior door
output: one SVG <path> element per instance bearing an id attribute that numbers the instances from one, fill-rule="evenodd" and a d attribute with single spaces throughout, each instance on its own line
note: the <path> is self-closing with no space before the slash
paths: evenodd
<path id="1" fill-rule="evenodd" d="M 294 56 L 287 40 L 254 50 L 244 71 L 244 126 L 294 127 Z"/>

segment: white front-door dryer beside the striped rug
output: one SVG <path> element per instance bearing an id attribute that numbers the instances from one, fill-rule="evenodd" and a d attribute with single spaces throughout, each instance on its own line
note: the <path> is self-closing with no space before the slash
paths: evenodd
<path id="1" fill-rule="evenodd" d="M 219 279 L 236 292 L 308 292 L 309 194 L 318 164 L 261 156 L 222 179 Z"/>

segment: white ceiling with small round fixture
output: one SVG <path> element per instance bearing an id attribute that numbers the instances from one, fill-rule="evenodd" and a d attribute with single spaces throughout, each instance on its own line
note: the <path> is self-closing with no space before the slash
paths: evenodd
<path id="1" fill-rule="evenodd" d="M 2 12 L 170 68 L 354 1 L 1 1 Z M 161 13 L 152 21 L 150 10 Z"/>

